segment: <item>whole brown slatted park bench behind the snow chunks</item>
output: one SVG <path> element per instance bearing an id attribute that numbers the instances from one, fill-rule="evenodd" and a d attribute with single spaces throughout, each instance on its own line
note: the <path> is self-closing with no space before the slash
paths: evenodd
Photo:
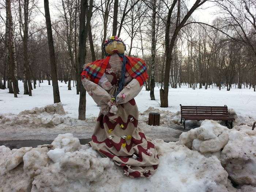
<path id="1" fill-rule="evenodd" d="M 181 120 L 185 129 L 186 120 L 215 120 L 215 121 L 228 121 L 230 122 L 231 128 L 233 127 L 233 117 L 229 117 L 227 106 L 182 106 L 180 104 Z"/>

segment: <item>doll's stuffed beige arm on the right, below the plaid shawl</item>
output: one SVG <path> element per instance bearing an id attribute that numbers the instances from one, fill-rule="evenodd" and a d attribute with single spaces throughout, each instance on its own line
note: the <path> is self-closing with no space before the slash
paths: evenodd
<path id="1" fill-rule="evenodd" d="M 140 93 L 142 88 L 143 85 L 140 86 L 137 79 L 132 79 L 131 82 L 117 95 L 116 103 L 127 103 L 131 99 L 135 98 Z"/>

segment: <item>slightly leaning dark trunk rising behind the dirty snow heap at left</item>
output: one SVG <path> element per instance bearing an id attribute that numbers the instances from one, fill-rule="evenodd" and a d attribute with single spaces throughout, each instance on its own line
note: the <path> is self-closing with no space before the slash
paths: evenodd
<path id="1" fill-rule="evenodd" d="M 51 67 L 52 86 L 53 86 L 53 100 L 54 100 L 54 103 L 59 103 L 60 92 L 59 92 L 59 85 L 57 80 L 55 52 L 54 52 L 53 37 L 52 37 L 52 24 L 50 19 L 48 0 L 44 0 L 44 8 L 45 8 L 45 21 L 46 21 L 46 29 L 47 29 L 47 37 L 48 37 L 49 54 L 50 54 L 49 57 L 50 57 L 50 67 Z"/>

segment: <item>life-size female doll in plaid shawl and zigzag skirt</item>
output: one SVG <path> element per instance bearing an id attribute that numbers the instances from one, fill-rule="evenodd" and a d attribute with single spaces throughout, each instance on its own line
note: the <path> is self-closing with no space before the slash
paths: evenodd
<path id="1" fill-rule="evenodd" d="M 125 44 L 116 36 L 105 41 L 104 50 L 106 58 L 86 64 L 81 74 L 84 88 L 101 106 L 89 144 L 122 166 L 125 175 L 149 177 L 159 159 L 151 139 L 137 127 L 134 100 L 148 78 L 145 61 L 125 56 Z"/>

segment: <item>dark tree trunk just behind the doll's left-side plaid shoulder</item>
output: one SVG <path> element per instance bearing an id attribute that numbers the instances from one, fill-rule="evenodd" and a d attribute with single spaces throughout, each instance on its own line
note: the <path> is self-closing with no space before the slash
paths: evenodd
<path id="1" fill-rule="evenodd" d="M 79 74 L 83 71 L 83 65 L 85 62 L 86 57 L 86 40 L 88 36 L 89 26 L 91 22 L 91 14 L 93 9 L 93 0 L 90 0 L 90 6 L 88 9 L 88 1 L 81 0 L 81 7 L 80 7 L 80 19 L 79 19 L 79 56 L 78 56 L 78 63 L 79 63 Z M 86 25 L 85 25 L 85 16 Z M 86 91 L 83 87 L 82 82 L 79 81 L 80 87 L 80 97 L 79 97 L 79 107 L 78 107 L 78 119 L 85 120 L 85 113 L 86 113 Z"/>

